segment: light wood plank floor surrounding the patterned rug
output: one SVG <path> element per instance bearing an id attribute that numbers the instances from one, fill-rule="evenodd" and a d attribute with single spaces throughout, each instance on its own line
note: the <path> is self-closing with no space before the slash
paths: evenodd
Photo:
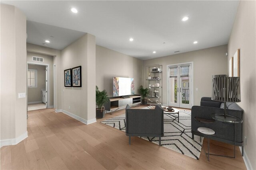
<path id="1" fill-rule="evenodd" d="M 103 119 L 120 114 L 124 109 Z M 54 109 L 28 116 L 28 138 L 1 148 L 1 169 L 246 169 L 238 147 L 236 159 L 210 156 L 208 162 L 203 150 L 196 160 L 138 137 L 128 145 L 125 133 L 103 119 L 85 125 Z M 210 142 L 211 152 L 232 155 L 232 145 Z"/>

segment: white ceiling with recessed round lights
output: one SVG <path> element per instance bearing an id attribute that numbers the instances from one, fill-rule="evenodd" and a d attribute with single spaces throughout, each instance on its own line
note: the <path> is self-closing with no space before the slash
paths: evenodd
<path id="1" fill-rule="evenodd" d="M 14 5 L 26 14 L 30 43 L 42 45 L 47 36 L 54 36 L 47 47 L 63 49 L 80 35 L 90 33 L 96 36 L 97 45 L 145 60 L 227 44 L 239 1 L 1 3 Z M 72 7 L 77 14 L 70 11 Z M 184 16 L 190 19 L 181 21 Z"/>

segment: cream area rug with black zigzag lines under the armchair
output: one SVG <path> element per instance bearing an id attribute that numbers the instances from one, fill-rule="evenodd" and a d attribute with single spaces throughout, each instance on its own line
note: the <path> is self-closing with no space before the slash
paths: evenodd
<path id="1" fill-rule="evenodd" d="M 142 109 L 149 109 L 150 106 Z M 176 120 L 176 117 L 168 114 L 164 114 L 164 137 L 161 137 L 161 146 L 174 150 L 186 156 L 190 156 L 195 159 L 199 159 L 203 137 L 200 142 L 200 137 L 194 135 L 192 139 L 191 134 L 191 112 L 186 110 L 180 111 L 180 123 Z M 106 125 L 119 129 L 125 132 L 125 114 L 112 117 L 101 121 Z M 152 143 L 158 145 L 158 137 L 141 137 Z"/>

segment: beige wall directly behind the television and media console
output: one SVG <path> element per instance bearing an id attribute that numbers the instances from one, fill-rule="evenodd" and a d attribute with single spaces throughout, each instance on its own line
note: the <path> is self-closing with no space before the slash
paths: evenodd
<path id="1" fill-rule="evenodd" d="M 135 94 L 142 85 L 143 61 L 96 45 L 96 85 L 113 97 L 113 77 L 134 78 Z"/>

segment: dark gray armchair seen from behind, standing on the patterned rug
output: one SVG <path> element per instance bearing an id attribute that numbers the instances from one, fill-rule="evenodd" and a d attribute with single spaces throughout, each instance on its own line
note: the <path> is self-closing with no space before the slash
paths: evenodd
<path id="1" fill-rule="evenodd" d="M 164 136 L 164 110 L 160 106 L 155 109 L 130 109 L 126 106 L 126 136 L 129 136 L 129 145 L 132 136 L 161 137 Z"/>

